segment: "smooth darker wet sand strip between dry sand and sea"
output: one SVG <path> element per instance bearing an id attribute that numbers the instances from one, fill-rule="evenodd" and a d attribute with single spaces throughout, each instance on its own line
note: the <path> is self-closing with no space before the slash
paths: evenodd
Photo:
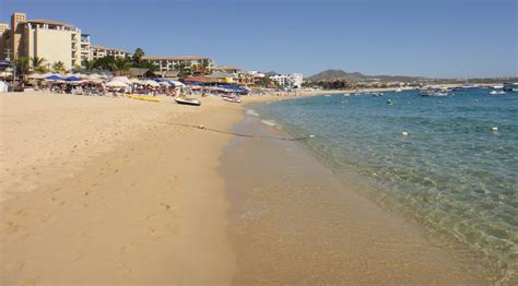
<path id="1" fill-rule="evenodd" d="M 234 130 L 284 136 L 251 116 Z M 466 251 L 431 242 L 298 144 L 236 138 L 226 147 L 234 284 L 487 284 Z"/>

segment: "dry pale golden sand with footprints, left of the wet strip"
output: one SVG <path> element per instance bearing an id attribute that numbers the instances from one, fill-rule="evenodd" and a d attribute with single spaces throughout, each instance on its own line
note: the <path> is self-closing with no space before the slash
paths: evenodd
<path id="1" fill-rule="evenodd" d="M 216 172 L 237 105 L 1 95 L 1 282 L 231 282 Z M 170 99 L 169 99 L 170 100 Z"/>

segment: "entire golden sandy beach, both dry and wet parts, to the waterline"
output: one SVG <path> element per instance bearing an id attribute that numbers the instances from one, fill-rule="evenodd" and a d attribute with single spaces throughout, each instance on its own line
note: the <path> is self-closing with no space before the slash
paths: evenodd
<path id="1" fill-rule="evenodd" d="M 2 284 L 483 284 L 291 143 L 172 124 L 267 132 L 202 99 L 3 94 Z"/>

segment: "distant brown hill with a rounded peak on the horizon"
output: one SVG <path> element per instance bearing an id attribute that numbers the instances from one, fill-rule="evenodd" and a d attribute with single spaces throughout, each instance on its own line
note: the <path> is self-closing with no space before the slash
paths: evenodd
<path id="1" fill-rule="evenodd" d="M 365 75 L 361 72 L 345 72 L 343 70 L 327 70 L 307 78 L 310 82 L 349 80 L 349 81 L 420 81 L 424 78 L 405 75 Z"/>

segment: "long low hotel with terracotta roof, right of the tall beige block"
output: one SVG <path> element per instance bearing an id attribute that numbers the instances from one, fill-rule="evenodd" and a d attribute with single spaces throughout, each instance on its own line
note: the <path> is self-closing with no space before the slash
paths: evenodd
<path id="1" fill-rule="evenodd" d="M 158 72 L 178 71 L 178 65 L 183 64 L 191 71 L 198 70 L 201 67 L 212 69 L 214 62 L 207 57 L 187 56 L 187 57 L 142 57 L 142 60 L 154 63 Z"/>

